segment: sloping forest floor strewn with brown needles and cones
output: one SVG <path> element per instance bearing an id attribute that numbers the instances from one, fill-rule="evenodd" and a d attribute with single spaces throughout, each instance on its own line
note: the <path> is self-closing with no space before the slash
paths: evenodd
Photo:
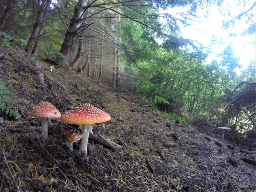
<path id="1" fill-rule="evenodd" d="M 0 53 L 0 72 L 22 115 L 2 115 L 1 192 L 256 192 L 253 151 L 158 115 L 138 96 L 104 90 L 68 67 L 50 72 L 50 64 L 15 47 Z M 40 121 L 30 116 L 41 101 L 61 113 L 80 103 L 106 111 L 111 120 L 93 128 L 122 149 L 89 139 L 87 155 L 79 143 L 70 151 L 59 120 L 49 120 L 49 139 L 42 141 Z"/>

